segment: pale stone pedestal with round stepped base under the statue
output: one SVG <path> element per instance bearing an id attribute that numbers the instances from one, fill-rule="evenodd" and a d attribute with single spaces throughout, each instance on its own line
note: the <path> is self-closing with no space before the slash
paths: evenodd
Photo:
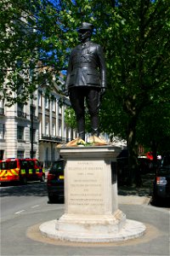
<path id="1" fill-rule="evenodd" d="M 107 242 L 144 233 L 143 224 L 127 222 L 118 209 L 116 156 L 120 151 L 112 146 L 60 149 L 66 160 L 65 213 L 49 223 L 55 224 L 55 230 L 41 225 L 43 235 L 65 241 Z"/>

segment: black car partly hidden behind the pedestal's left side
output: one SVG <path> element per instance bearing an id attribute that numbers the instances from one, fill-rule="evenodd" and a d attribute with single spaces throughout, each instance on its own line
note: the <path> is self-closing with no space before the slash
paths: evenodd
<path id="1" fill-rule="evenodd" d="M 64 198 L 64 169 L 65 161 L 63 159 L 54 161 L 54 164 L 49 169 L 47 188 L 50 202 Z"/>

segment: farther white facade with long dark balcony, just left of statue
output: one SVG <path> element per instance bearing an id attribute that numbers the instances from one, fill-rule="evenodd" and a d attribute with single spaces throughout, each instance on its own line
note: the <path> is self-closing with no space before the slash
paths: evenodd
<path id="1" fill-rule="evenodd" d="M 59 143 L 77 137 L 77 132 L 65 124 L 65 108 L 68 106 L 69 100 L 60 96 L 56 87 L 51 92 L 51 100 L 45 96 L 45 88 L 38 90 L 39 160 L 45 166 L 59 159 Z"/>

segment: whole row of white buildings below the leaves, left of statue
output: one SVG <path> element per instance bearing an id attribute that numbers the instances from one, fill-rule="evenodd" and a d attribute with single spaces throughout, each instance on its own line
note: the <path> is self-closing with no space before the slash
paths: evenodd
<path id="1" fill-rule="evenodd" d="M 64 102 L 60 105 L 60 101 Z M 45 86 L 26 104 L 5 106 L 0 100 L 0 160 L 8 158 L 37 158 L 44 166 L 59 159 L 59 143 L 77 136 L 65 124 L 65 108 L 70 102 L 59 95 L 57 86 L 45 96 Z"/>

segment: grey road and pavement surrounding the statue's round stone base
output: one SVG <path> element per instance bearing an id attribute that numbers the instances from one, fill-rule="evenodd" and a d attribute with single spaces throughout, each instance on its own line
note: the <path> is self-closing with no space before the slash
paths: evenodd
<path id="1" fill-rule="evenodd" d="M 146 234 L 131 241 L 78 244 L 42 237 L 40 224 L 64 213 L 62 202 L 48 204 L 46 183 L 1 187 L 1 256 L 168 256 L 170 215 L 167 208 L 147 204 L 119 205 L 127 218 L 146 224 Z M 37 235 L 38 234 L 38 235 Z"/>

